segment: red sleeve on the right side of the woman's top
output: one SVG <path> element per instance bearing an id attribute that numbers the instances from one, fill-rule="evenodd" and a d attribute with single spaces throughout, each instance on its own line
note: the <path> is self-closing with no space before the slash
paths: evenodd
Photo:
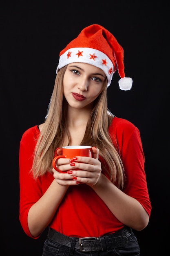
<path id="1" fill-rule="evenodd" d="M 151 203 L 139 129 L 126 119 L 114 117 L 109 132 L 115 146 L 119 147 L 124 164 L 126 175 L 124 193 L 138 200 L 150 216 Z"/>

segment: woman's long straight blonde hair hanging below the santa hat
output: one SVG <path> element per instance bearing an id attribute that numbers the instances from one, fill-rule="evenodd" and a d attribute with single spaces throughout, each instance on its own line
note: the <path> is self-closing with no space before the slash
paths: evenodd
<path id="1" fill-rule="evenodd" d="M 63 77 L 67 66 L 57 72 L 55 85 L 49 103 L 44 126 L 35 146 L 33 157 L 33 176 L 44 175 L 52 172 L 52 159 L 55 149 L 63 146 L 64 137 L 70 135 L 67 129 L 66 111 L 67 103 L 63 96 Z M 99 148 L 99 155 L 106 161 L 108 168 L 105 170 L 112 182 L 119 188 L 124 186 L 124 167 L 117 149 L 113 146 L 108 133 L 108 126 L 113 115 L 107 107 L 107 79 L 102 92 L 94 101 L 94 107 L 87 122 L 84 138 L 80 145 L 91 145 Z M 69 143 L 68 143 L 69 144 Z M 102 168 L 105 168 L 102 166 Z"/>

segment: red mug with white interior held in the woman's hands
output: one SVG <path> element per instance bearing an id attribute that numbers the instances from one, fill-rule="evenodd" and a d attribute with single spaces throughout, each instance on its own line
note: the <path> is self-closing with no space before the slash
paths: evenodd
<path id="1" fill-rule="evenodd" d="M 66 173 L 66 171 L 60 171 L 56 162 L 59 158 L 69 158 L 83 156 L 83 157 L 92 157 L 92 147 L 91 146 L 66 146 L 62 147 L 62 155 L 57 155 L 52 161 L 53 168 L 60 173 Z"/>

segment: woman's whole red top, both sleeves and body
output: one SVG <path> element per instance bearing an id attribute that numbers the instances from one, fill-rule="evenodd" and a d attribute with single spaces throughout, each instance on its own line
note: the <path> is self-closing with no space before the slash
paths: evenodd
<path id="1" fill-rule="evenodd" d="M 53 174 L 47 172 L 35 181 L 29 173 L 39 133 L 38 126 L 26 130 L 20 141 L 19 153 L 19 219 L 24 232 L 34 239 L 38 237 L 33 237 L 29 231 L 28 212 L 30 207 L 42 197 L 54 179 Z M 140 132 L 126 119 L 114 117 L 109 126 L 109 133 L 115 146 L 119 146 L 125 168 L 124 193 L 138 200 L 150 216 L 151 203 L 144 171 L 145 158 Z M 99 160 L 104 162 L 101 157 Z M 104 171 L 102 172 L 104 173 Z M 79 184 L 68 188 L 49 226 L 66 236 L 98 237 L 114 233 L 124 227 L 124 224 L 113 215 L 90 186 Z"/>

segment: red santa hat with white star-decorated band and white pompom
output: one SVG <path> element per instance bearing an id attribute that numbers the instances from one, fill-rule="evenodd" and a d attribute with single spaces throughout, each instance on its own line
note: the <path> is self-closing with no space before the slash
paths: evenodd
<path id="1" fill-rule="evenodd" d="M 130 90 L 132 79 L 125 77 L 124 49 L 116 38 L 104 27 L 94 24 L 85 27 L 77 38 L 73 39 L 60 52 L 56 73 L 62 67 L 73 62 L 82 62 L 101 68 L 110 85 L 113 74 L 119 72 L 119 88 Z"/>

